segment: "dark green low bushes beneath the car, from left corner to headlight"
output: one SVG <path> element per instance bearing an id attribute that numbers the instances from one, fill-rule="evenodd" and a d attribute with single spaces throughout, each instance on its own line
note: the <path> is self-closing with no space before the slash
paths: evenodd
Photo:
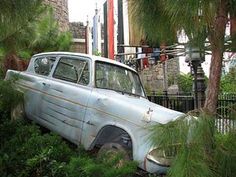
<path id="1" fill-rule="evenodd" d="M 1 176 L 128 176 L 137 168 L 125 162 L 117 168 L 114 161 L 101 162 L 75 149 L 59 136 L 42 134 L 39 127 L 24 121 L 0 124 Z"/>

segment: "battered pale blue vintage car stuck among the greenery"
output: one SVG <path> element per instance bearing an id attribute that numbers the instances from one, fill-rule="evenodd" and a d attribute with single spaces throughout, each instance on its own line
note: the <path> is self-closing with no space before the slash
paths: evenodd
<path id="1" fill-rule="evenodd" d="M 107 58 L 50 52 L 34 55 L 26 71 L 8 70 L 6 80 L 14 76 L 29 119 L 86 150 L 120 144 L 140 168 L 166 171 L 166 157 L 155 155 L 148 141 L 149 128 L 183 114 L 150 102 L 134 69 Z"/>

